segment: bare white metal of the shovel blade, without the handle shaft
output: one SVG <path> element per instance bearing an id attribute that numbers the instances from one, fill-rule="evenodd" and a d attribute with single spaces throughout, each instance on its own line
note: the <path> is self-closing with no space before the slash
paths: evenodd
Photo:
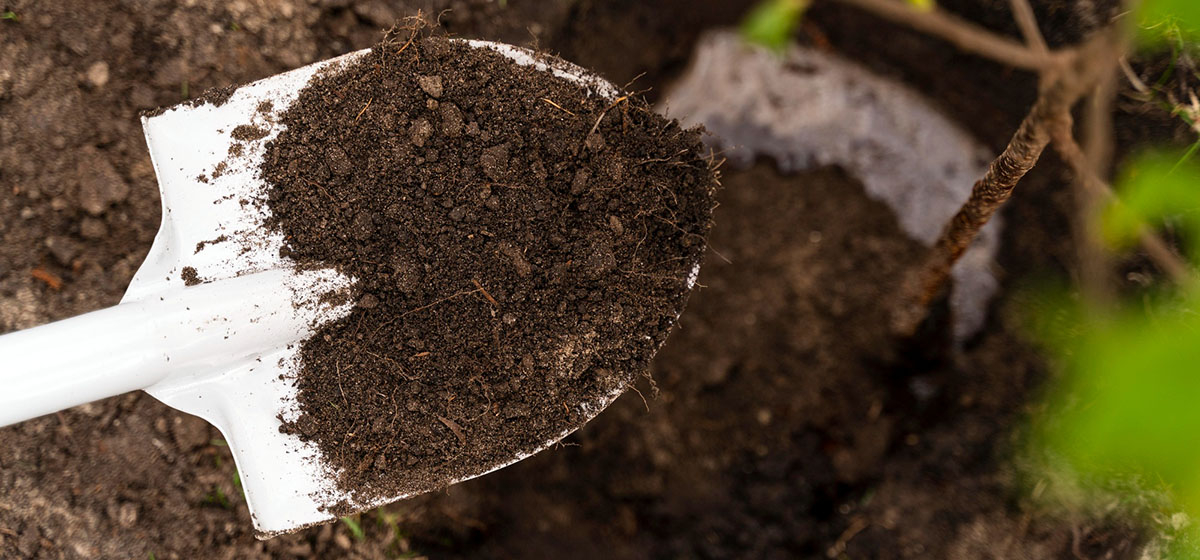
<path id="1" fill-rule="evenodd" d="M 612 84 L 576 66 L 550 66 L 506 44 L 469 44 L 577 82 L 595 95 L 616 97 Z M 298 415 L 290 379 L 299 368 L 300 342 L 350 311 L 348 303 L 323 303 L 329 300 L 322 295 L 350 287 L 354 278 L 334 270 L 300 272 L 280 255 L 283 239 L 264 227 L 269 211 L 260 203 L 268 186 L 258 168 L 266 143 L 282 131 L 277 116 L 308 79 L 366 53 L 244 85 L 220 106 L 181 106 L 143 119 L 162 192 L 162 228 L 119 307 L 155 301 L 174 306 L 174 314 L 157 314 L 157 329 L 179 341 L 169 344 L 166 355 L 170 367 L 145 390 L 224 434 L 260 536 L 329 520 L 328 506 L 336 502 L 367 508 L 403 498 L 356 502 L 334 486 L 314 444 L 278 429 L 281 417 Z M 265 101 L 271 102 L 269 109 Z M 230 156 L 235 143 L 230 134 L 242 125 L 266 134 L 240 141 L 241 152 Z M 187 287 L 185 276 L 203 283 Z M 583 410 L 594 416 L 617 395 L 586 403 Z"/>

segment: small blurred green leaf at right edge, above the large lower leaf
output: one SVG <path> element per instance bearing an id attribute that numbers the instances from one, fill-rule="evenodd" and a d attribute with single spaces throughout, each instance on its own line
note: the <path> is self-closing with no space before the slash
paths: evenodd
<path id="1" fill-rule="evenodd" d="M 1116 199 L 1100 217 L 1105 241 L 1117 248 L 1136 242 L 1145 224 L 1177 219 L 1200 241 L 1200 165 L 1188 153 L 1146 152 L 1126 165 L 1116 181 Z M 1192 243 L 1193 261 L 1200 243 Z"/>

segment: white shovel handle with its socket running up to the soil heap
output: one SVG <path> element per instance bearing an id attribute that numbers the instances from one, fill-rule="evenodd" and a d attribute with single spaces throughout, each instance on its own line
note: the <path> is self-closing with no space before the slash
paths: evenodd
<path id="1" fill-rule="evenodd" d="M 336 272 L 268 270 L 166 288 L 116 307 L 0 336 L 0 426 L 253 361 L 349 313 L 322 303 Z"/>

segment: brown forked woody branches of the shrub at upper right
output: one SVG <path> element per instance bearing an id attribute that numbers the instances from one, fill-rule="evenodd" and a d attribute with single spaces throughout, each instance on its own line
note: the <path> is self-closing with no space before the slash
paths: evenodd
<path id="1" fill-rule="evenodd" d="M 1051 141 L 1082 188 L 1103 193 L 1106 199 L 1114 198 L 1111 188 L 1097 170 L 1096 163 L 1105 159 L 1103 150 L 1088 155 L 1079 146 L 1072 132 L 1070 108 L 1094 90 L 1102 74 L 1111 72 L 1116 64 L 1122 64 L 1121 68 L 1129 73 L 1128 65 L 1120 58 L 1124 44 L 1122 30 L 1120 25 L 1114 25 L 1081 46 L 1050 50 L 1028 0 L 1009 0 L 1027 44 L 936 8 L 914 10 L 901 0 L 839 1 L 949 41 L 965 52 L 1037 72 L 1042 82 L 1038 101 L 1016 134 L 989 165 L 984 177 L 972 187 L 970 199 L 946 225 L 935 246 L 906 276 L 892 309 L 892 326 L 898 336 L 911 337 L 928 314 L 929 303 L 946 285 L 954 263 L 966 252 L 979 229 L 1008 200 L 1013 188 L 1037 164 Z M 1094 108 L 1090 114 L 1092 121 L 1097 119 L 1098 110 Z M 1103 141 L 1100 132 L 1099 141 Z M 1148 227 L 1144 225 L 1139 236 L 1142 248 L 1164 273 L 1176 282 L 1190 278 L 1188 265 Z"/>

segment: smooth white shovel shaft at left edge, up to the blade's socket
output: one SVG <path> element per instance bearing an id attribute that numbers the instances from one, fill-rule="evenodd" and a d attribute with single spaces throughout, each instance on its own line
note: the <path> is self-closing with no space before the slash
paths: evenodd
<path id="1" fill-rule="evenodd" d="M 0 336 L 0 426 L 148 387 L 167 373 L 154 312 L 122 303 Z"/>

